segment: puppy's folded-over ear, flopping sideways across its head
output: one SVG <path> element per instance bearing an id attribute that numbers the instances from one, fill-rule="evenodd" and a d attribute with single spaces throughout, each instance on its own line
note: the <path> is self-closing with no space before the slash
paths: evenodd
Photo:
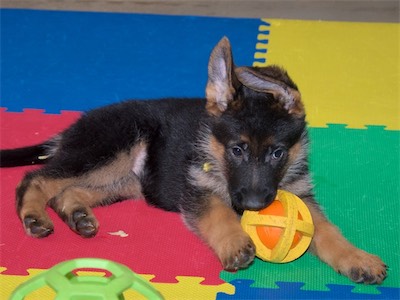
<path id="1" fill-rule="evenodd" d="M 300 92 L 283 69 L 270 66 L 266 68 L 236 68 L 239 81 L 251 90 L 269 93 L 277 99 L 289 114 L 303 117 L 304 106 Z"/>

